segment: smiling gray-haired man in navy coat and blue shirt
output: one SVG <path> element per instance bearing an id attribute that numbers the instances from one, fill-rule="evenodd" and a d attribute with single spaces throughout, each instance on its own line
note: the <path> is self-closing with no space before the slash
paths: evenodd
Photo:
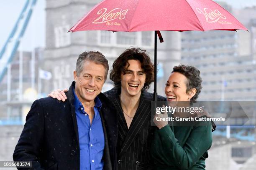
<path id="1" fill-rule="evenodd" d="M 80 54 L 68 100 L 33 102 L 13 160 L 32 161 L 36 170 L 115 170 L 118 120 L 101 93 L 108 69 L 102 53 Z"/>

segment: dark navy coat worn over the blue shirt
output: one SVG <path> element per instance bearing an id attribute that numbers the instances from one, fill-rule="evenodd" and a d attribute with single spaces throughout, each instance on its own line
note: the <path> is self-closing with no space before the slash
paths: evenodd
<path id="1" fill-rule="evenodd" d="M 74 85 L 75 82 L 72 82 L 65 102 L 51 97 L 33 102 L 13 153 L 14 161 L 32 161 L 32 169 L 36 170 L 79 170 L 79 137 L 72 90 Z M 103 169 L 116 170 L 116 110 L 105 95 L 100 93 L 98 97 L 102 102 L 100 116 L 105 136 Z"/>

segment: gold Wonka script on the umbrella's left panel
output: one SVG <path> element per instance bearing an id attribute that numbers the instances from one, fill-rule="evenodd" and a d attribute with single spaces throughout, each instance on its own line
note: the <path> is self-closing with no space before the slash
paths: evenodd
<path id="1" fill-rule="evenodd" d="M 100 17 L 94 20 L 92 23 L 95 23 L 95 24 L 107 23 L 117 18 L 119 20 L 123 20 L 125 19 L 125 15 L 128 12 L 128 10 L 122 10 L 120 7 L 110 10 L 108 13 L 107 13 L 107 10 L 108 10 L 107 8 L 103 8 L 99 10 L 97 12 L 97 15 L 100 15 Z"/>

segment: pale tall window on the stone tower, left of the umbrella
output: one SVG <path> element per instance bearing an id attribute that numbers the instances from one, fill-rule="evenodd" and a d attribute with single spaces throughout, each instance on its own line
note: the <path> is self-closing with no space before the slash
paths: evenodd
<path id="1" fill-rule="evenodd" d="M 70 45 L 70 33 L 68 33 L 69 25 L 54 28 L 55 47 L 64 47 Z"/>

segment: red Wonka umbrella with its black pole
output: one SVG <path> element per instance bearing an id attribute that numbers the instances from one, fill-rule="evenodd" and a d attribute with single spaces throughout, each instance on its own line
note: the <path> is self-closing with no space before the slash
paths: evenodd
<path id="1" fill-rule="evenodd" d="M 212 0 L 103 0 L 69 31 L 155 31 L 156 100 L 156 34 L 159 30 L 207 31 L 247 30 L 227 10 Z"/>

